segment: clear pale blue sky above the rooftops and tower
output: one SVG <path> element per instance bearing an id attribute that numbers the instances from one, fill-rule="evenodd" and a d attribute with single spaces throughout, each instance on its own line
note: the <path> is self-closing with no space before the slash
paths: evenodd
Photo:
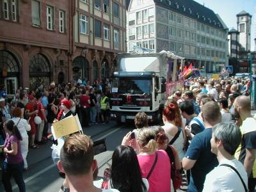
<path id="1" fill-rule="evenodd" d="M 251 25 L 251 51 L 254 50 L 254 7 L 256 0 L 194 0 L 200 4 L 204 4 L 207 8 L 218 13 L 228 28 L 237 29 L 236 14 L 245 11 L 252 15 Z M 256 50 L 255 50 L 256 51 Z"/>

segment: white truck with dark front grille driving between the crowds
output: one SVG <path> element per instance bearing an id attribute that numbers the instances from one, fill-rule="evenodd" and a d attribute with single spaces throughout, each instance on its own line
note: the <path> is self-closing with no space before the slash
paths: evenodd
<path id="1" fill-rule="evenodd" d="M 172 52 L 120 53 L 116 55 L 117 72 L 111 74 L 109 119 L 117 123 L 133 122 L 138 112 L 145 112 L 148 122 L 161 120 L 166 101 L 168 58 L 173 63 L 184 58 Z"/>

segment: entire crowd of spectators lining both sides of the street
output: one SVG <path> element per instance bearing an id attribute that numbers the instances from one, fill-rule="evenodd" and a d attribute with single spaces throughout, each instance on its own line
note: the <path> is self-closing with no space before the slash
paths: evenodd
<path id="1" fill-rule="evenodd" d="M 147 115 L 139 112 L 134 119 L 136 129 L 128 132 L 113 152 L 110 179 L 100 185 L 93 141 L 84 134 L 68 136 L 58 161 L 60 172 L 65 173 L 60 191 L 174 191 L 175 170 L 186 170 L 188 191 L 254 191 L 256 120 L 248 98 L 250 81 L 244 88 L 240 82 L 241 79 L 193 79 L 191 90 L 176 90 L 166 100 L 162 126 L 149 126 Z M 44 97 L 36 93 L 35 98 L 26 95 L 24 89 L 23 95 L 17 95 L 19 102 L 10 104 L 13 108 L 9 107 L 5 117 L 2 115 L 6 132 L 4 145 L 1 144 L 6 153 L 2 180 L 6 191 L 10 189 L 12 170 L 17 170 L 13 177 L 17 177 L 20 191 L 25 190 L 20 174 L 28 167 L 28 151 L 22 146 L 38 148 L 55 118 L 81 114 L 83 127 L 108 123 L 108 97 L 97 82 L 94 86 L 89 84 L 64 84 L 58 93 L 52 92 L 56 87 L 51 84 Z M 0 99 L 0 106 L 1 111 L 6 110 L 4 99 Z M 10 119 L 6 117 L 8 113 Z M 40 116 L 41 124 L 46 125 L 36 125 L 35 116 Z M 29 130 L 30 143 L 25 134 Z"/>

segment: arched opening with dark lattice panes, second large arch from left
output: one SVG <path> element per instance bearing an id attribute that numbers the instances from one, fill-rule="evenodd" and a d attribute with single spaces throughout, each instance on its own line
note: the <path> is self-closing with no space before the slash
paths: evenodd
<path id="1" fill-rule="evenodd" d="M 41 84 L 50 84 L 50 65 L 44 54 L 36 53 L 29 61 L 29 90 L 36 90 Z"/>

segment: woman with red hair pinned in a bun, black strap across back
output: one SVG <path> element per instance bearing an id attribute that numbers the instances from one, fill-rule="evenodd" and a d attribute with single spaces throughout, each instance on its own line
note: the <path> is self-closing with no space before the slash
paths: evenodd
<path id="1" fill-rule="evenodd" d="M 169 144 L 173 145 L 173 147 L 175 147 L 175 149 L 177 150 L 181 162 L 185 155 L 183 151 L 185 141 L 182 129 L 178 127 L 175 122 L 177 116 L 180 115 L 178 109 L 179 107 L 173 103 L 170 103 L 168 104 L 168 106 L 166 106 L 163 111 L 163 129 L 170 141 Z"/>

